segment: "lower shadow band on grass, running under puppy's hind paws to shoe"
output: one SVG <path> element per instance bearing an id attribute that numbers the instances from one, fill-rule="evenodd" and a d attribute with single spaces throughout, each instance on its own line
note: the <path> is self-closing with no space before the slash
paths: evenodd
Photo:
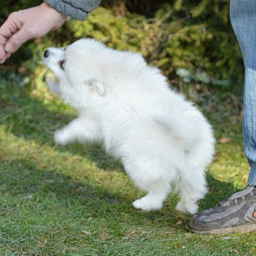
<path id="1" fill-rule="evenodd" d="M 170 194 L 162 210 L 141 212 L 133 209 L 131 206 L 133 199 L 128 197 L 130 193 L 126 194 L 124 192 L 126 189 L 131 189 L 130 187 L 124 187 L 122 188 L 123 191 L 113 193 L 90 179 L 84 182 L 74 181 L 72 177 L 58 173 L 57 170 L 40 169 L 28 160 L 12 160 L 9 162 L 1 160 L 0 165 L 1 194 L 7 193 L 11 197 L 22 195 L 27 197 L 33 194 L 44 200 L 48 195 L 54 195 L 63 205 L 65 205 L 65 202 L 69 202 L 70 209 L 73 208 L 72 204 L 80 205 L 80 207 L 89 206 L 88 210 L 91 214 L 104 212 L 104 215 L 107 213 L 118 216 L 122 215 L 123 212 L 130 212 L 132 215 L 136 212 L 136 215 L 145 215 L 144 217 L 149 219 L 160 219 L 161 216 L 167 214 L 169 217 L 166 216 L 166 218 L 170 220 L 170 223 L 173 223 L 173 218 L 176 220 L 181 217 L 181 214 L 175 210 L 178 197 L 174 194 Z M 209 182 L 209 193 L 205 199 L 199 202 L 199 210 L 213 207 L 238 191 L 233 184 L 217 181 L 212 176 L 207 176 L 207 180 Z"/>

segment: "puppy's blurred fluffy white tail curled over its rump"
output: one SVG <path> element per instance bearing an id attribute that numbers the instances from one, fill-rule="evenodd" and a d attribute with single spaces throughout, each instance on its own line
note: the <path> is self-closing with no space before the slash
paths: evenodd
<path id="1" fill-rule="evenodd" d="M 184 113 L 184 115 L 154 115 L 154 121 L 160 125 L 162 132 L 178 140 L 185 150 L 192 149 L 202 140 L 202 115 Z"/>

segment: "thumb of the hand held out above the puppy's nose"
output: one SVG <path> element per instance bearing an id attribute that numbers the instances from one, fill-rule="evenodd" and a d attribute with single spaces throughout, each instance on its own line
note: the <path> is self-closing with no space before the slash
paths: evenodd
<path id="1" fill-rule="evenodd" d="M 15 34 L 9 38 L 7 43 L 4 46 L 4 50 L 10 53 L 17 51 L 22 44 L 28 41 L 30 38 L 28 37 L 28 33 L 25 33 L 22 28 L 18 30 Z"/>

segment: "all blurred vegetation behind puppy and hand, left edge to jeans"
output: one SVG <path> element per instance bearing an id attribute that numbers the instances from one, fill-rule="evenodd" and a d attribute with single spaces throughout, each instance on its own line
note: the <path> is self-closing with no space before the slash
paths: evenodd
<path id="1" fill-rule="evenodd" d="M 9 13 L 40 3 L 1 0 L 0 24 Z M 21 84 L 33 76 L 44 80 L 48 72 L 41 62 L 44 49 L 81 37 L 141 52 L 175 88 L 202 107 L 210 106 L 210 112 L 218 110 L 218 103 L 213 106 L 209 102 L 216 99 L 205 97 L 212 95 L 222 97 L 226 106 L 232 102 L 233 114 L 241 112 L 244 67 L 229 21 L 228 0 L 103 0 L 86 22 L 70 18 L 58 31 L 25 44 L 0 66 L 1 79 L 6 79 L 7 73 L 12 77 L 16 70 L 15 78 Z"/>

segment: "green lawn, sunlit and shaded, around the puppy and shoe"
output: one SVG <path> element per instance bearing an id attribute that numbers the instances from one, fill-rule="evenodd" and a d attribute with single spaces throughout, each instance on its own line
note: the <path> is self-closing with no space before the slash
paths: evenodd
<path id="1" fill-rule="evenodd" d="M 75 112 L 35 81 L 0 80 L 0 255 L 256 255 L 255 234 L 186 231 L 189 216 L 176 212 L 174 194 L 162 210 L 133 209 L 143 192 L 119 162 L 98 146 L 54 144 L 54 130 Z M 241 118 L 218 100 L 203 110 L 216 138 L 231 141 L 217 143 L 201 209 L 242 189 L 249 170 Z"/>

